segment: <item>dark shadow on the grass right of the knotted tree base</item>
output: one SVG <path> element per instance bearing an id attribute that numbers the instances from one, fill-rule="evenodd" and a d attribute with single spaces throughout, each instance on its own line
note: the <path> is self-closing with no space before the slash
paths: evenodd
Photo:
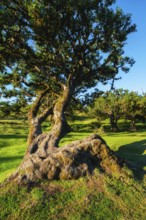
<path id="1" fill-rule="evenodd" d="M 116 154 L 127 160 L 127 165 L 136 179 L 143 179 L 146 174 L 146 169 L 144 170 L 146 167 L 146 140 L 123 145 Z"/>

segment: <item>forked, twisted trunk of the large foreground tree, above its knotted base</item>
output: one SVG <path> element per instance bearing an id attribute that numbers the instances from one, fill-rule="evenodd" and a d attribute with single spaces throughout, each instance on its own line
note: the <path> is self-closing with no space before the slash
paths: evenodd
<path id="1" fill-rule="evenodd" d="M 29 167 L 30 170 L 33 167 L 31 172 L 28 172 L 27 170 L 27 172 L 29 173 L 28 179 L 33 179 L 33 176 L 35 175 L 34 170 L 37 170 L 37 167 L 40 166 L 40 163 L 45 160 L 50 154 L 57 150 L 60 139 L 70 131 L 70 126 L 67 124 L 64 114 L 70 100 L 70 96 L 70 87 L 64 86 L 62 96 L 59 97 L 56 104 L 54 105 L 54 108 L 47 109 L 46 112 L 42 113 L 42 115 L 40 115 L 39 117 L 36 116 L 36 107 L 38 106 L 38 102 L 40 100 L 36 101 L 34 108 L 30 114 L 31 126 L 28 136 L 29 145 L 23 161 L 18 169 L 19 174 L 23 173 L 23 171 L 26 170 L 27 167 Z M 41 123 L 50 113 L 52 113 L 52 111 L 54 125 L 48 133 L 42 133 Z M 37 164 L 36 168 L 34 164 Z M 20 170 L 21 172 L 19 172 Z M 22 177 L 22 175 L 20 175 L 20 177 Z"/>

